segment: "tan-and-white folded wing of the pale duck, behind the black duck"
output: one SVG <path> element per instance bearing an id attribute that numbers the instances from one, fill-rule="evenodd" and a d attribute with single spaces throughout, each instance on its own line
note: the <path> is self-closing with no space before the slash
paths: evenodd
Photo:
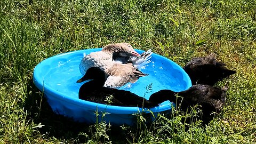
<path id="1" fill-rule="evenodd" d="M 129 82 L 137 82 L 142 76 L 147 76 L 147 74 L 133 67 L 132 63 L 115 63 L 107 69 L 106 73 L 109 75 L 105 82 L 106 87 L 121 87 Z"/>

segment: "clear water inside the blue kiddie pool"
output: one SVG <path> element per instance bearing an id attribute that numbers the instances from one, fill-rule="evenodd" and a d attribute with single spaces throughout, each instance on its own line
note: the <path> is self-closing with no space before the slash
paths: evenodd
<path id="1" fill-rule="evenodd" d="M 44 74 L 44 83 L 69 97 L 78 98 L 79 87 L 83 83 L 76 83 L 76 81 L 82 77 L 78 67 L 82 57 L 83 55 L 76 54 L 67 59 L 52 61 L 50 63 L 51 68 L 49 69 L 47 66 L 44 69 L 46 73 Z M 186 82 L 183 81 L 183 76 L 179 70 L 174 69 L 167 61 L 158 60 L 154 55 L 151 60 L 145 69 L 141 69 L 143 73 L 149 74 L 148 76 L 140 77 L 136 83 L 128 83 L 120 89 L 131 91 L 143 97 L 146 92 L 145 87 L 152 83 L 152 90 L 145 95 L 146 99 L 159 90 L 180 91 L 186 89 Z"/>

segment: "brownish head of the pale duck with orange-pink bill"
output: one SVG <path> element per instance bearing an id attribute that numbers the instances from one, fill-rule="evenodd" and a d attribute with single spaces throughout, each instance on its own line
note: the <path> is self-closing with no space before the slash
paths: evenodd
<path id="1" fill-rule="evenodd" d="M 129 43 L 108 44 L 103 47 L 102 51 L 112 52 L 114 57 L 140 56 Z"/>

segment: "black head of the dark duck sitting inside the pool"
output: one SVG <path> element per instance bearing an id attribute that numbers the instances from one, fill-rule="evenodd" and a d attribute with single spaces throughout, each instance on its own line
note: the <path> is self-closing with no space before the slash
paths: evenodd
<path id="1" fill-rule="evenodd" d="M 93 79 L 95 81 L 103 81 L 105 83 L 107 78 L 108 78 L 108 75 L 104 70 L 102 70 L 99 67 L 91 67 L 87 69 L 85 75 L 81 79 L 78 79 L 78 81 L 76 82 L 81 83 L 86 80 Z"/>

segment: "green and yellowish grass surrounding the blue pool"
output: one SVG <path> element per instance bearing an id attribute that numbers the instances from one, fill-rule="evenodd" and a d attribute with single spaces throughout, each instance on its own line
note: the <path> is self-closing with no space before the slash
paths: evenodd
<path id="1" fill-rule="evenodd" d="M 103 142 L 97 134 L 109 143 L 255 143 L 255 5 L 246 0 L 0 1 L 0 143 Z M 215 52 L 237 70 L 217 84 L 229 87 L 227 105 L 207 126 L 182 123 L 182 117 L 194 115 L 180 111 L 149 126 L 139 121 L 140 129 L 93 128 L 55 115 L 33 84 L 37 63 L 117 42 L 151 48 L 180 66 Z"/>

